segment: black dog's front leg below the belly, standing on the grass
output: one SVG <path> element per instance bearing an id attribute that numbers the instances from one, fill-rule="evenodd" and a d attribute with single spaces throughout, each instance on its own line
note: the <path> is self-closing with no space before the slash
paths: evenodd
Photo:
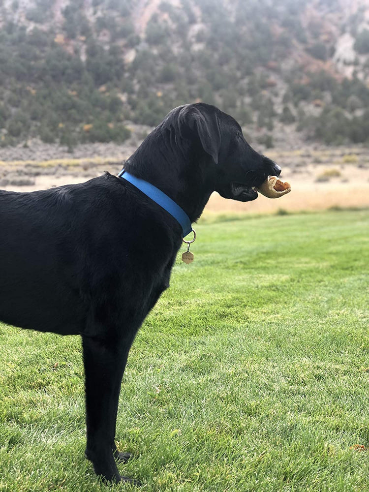
<path id="1" fill-rule="evenodd" d="M 114 456 L 118 400 L 130 342 L 82 335 L 86 389 L 86 457 L 97 475 L 108 481 L 132 481 L 122 477 Z"/>

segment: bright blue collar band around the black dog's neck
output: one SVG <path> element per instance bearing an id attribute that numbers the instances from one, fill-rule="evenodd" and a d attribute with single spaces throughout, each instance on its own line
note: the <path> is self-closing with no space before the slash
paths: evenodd
<path id="1" fill-rule="evenodd" d="M 147 181 L 136 178 L 131 174 L 124 171 L 124 169 L 118 174 L 120 178 L 128 181 L 138 188 L 146 196 L 154 200 L 161 208 L 169 212 L 170 215 L 181 224 L 183 229 L 183 237 L 187 236 L 192 231 L 191 221 L 188 215 L 181 209 L 179 205 L 176 204 L 169 196 L 163 193 L 159 188 L 156 188 L 154 184 L 148 183 Z"/>

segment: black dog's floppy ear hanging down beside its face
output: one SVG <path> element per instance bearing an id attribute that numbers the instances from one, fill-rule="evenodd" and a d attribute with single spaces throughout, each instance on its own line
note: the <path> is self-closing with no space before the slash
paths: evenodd
<path id="1" fill-rule="evenodd" d="M 182 109 L 180 120 L 182 120 L 181 123 L 185 123 L 198 134 L 204 151 L 211 155 L 217 164 L 220 149 L 220 128 L 215 111 L 210 112 L 205 108 L 200 111 L 189 105 Z"/>

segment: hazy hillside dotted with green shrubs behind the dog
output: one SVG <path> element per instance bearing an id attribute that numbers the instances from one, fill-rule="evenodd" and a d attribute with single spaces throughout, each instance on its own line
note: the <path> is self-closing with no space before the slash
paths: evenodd
<path id="1" fill-rule="evenodd" d="M 200 100 L 267 147 L 369 140 L 368 0 L 0 0 L 0 27 L 2 147 L 120 143 Z"/>

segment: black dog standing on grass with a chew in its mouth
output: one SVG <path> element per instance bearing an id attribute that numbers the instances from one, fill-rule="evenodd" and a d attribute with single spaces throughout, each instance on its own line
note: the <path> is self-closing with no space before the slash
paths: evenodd
<path id="1" fill-rule="evenodd" d="M 232 117 L 202 103 L 171 111 L 124 168 L 191 222 L 213 191 L 254 200 L 253 187 L 280 173 Z M 108 173 L 44 191 L 0 191 L 0 319 L 82 336 L 86 457 L 109 481 L 130 481 L 115 461 L 129 458 L 115 445 L 121 380 L 137 330 L 169 286 L 182 239 L 172 215 Z"/>

